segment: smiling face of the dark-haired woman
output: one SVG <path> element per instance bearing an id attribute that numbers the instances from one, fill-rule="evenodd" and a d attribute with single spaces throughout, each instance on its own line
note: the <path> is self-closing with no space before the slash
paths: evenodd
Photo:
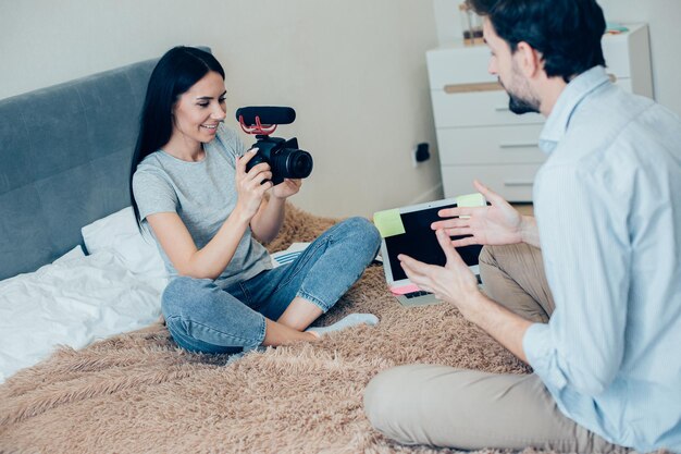
<path id="1" fill-rule="evenodd" d="M 226 115 L 225 94 L 222 76 L 213 71 L 182 94 L 173 108 L 171 140 L 211 142 Z"/>

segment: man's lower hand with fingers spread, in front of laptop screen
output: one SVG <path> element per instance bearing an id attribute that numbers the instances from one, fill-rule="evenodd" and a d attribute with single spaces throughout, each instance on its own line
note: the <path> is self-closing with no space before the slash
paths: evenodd
<path id="1" fill-rule="evenodd" d="M 467 312 L 473 309 L 474 297 L 480 294 L 478 280 L 451 245 L 447 233 L 438 230 L 436 235 L 447 257 L 444 267 L 423 263 L 403 254 L 397 258 L 412 283 L 433 293 L 437 299 L 454 304 L 468 318 Z"/>

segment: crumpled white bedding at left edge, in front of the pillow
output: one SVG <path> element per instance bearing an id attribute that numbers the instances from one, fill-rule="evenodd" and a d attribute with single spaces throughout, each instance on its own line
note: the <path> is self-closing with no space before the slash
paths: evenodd
<path id="1" fill-rule="evenodd" d="M 111 253 L 76 249 L 0 281 L 0 382 L 59 344 L 82 348 L 159 318 L 164 278 L 143 279 Z"/>

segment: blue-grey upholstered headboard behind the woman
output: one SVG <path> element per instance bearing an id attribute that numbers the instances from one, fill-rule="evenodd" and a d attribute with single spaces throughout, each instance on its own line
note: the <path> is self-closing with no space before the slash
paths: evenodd
<path id="1" fill-rule="evenodd" d="M 82 243 L 129 205 L 127 179 L 148 60 L 0 100 L 0 279 Z"/>

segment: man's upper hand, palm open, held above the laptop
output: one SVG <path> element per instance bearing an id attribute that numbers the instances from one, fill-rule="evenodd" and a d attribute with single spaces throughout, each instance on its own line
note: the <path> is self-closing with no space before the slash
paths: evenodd
<path id="1" fill-rule="evenodd" d="M 433 222 L 431 225 L 433 230 L 443 229 L 449 236 L 467 235 L 451 242 L 456 247 L 471 244 L 505 245 L 522 242 L 538 247 L 538 232 L 532 218 L 520 216 L 508 201 L 478 180 L 473 182 L 473 185 L 492 205 L 439 210 L 439 217 L 451 219 Z"/>

